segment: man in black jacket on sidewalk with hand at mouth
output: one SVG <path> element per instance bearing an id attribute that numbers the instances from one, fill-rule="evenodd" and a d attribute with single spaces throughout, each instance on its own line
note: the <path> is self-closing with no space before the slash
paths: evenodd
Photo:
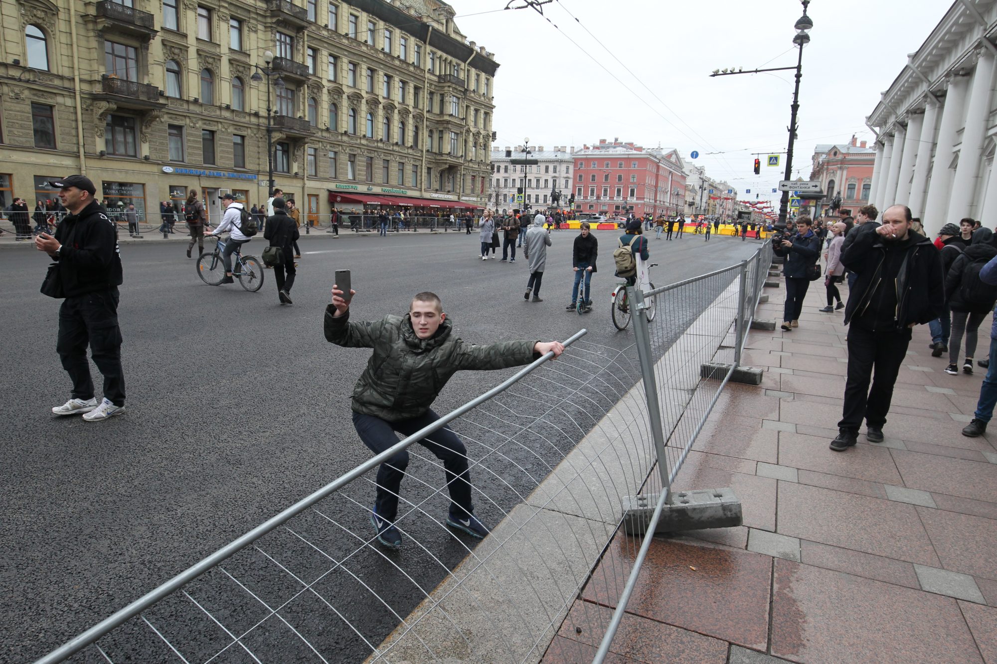
<path id="1" fill-rule="evenodd" d="M 881 226 L 858 233 L 841 254 L 857 278 L 844 307 L 848 368 L 837 438 L 831 441 L 834 452 L 857 442 L 863 419 L 868 441 L 883 441 L 911 328 L 937 318 L 945 301 L 938 250 L 911 231 L 910 222 L 909 207 L 892 205 L 882 213 Z"/>

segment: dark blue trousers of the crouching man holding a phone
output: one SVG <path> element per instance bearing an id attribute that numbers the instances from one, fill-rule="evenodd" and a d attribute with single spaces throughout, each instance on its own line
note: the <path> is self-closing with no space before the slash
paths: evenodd
<path id="1" fill-rule="evenodd" d="M 426 415 L 398 422 L 386 422 L 372 415 L 353 414 L 353 426 L 371 452 L 379 455 L 398 444 L 398 436 L 411 436 L 424 427 L 428 427 L 440 416 L 432 410 Z M 450 490 L 450 510 L 456 515 L 470 514 L 474 511 L 471 502 L 471 473 L 468 471 L 468 451 L 464 443 L 453 431 L 444 427 L 428 438 L 419 441 L 419 445 L 432 452 L 443 462 L 446 470 L 447 487 Z M 405 469 L 409 466 L 409 452 L 404 450 L 381 464 L 377 472 L 377 498 L 375 505 L 381 518 L 394 521 L 398 516 L 398 494 L 405 477 Z"/>

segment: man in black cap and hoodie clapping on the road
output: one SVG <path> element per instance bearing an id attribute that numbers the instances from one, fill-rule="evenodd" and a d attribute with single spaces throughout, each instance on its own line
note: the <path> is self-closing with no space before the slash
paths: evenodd
<path id="1" fill-rule="evenodd" d="M 125 372 L 122 369 L 122 333 L 118 327 L 118 286 L 122 260 L 118 227 L 105 213 L 89 177 L 70 175 L 49 185 L 61 189 L 59 198 L 69 216 L 56 228 L 55 237 L 39 233 L 35 246 L 59 265 L 65 296 L 59 308 L 56 350 L 73 381 L 72 398 L 52 412 L 83 415 L 100 422 L 125 412 Z M 94 398 L 87 345 L 97 368 L 104 374 L 104 399 Z"/>

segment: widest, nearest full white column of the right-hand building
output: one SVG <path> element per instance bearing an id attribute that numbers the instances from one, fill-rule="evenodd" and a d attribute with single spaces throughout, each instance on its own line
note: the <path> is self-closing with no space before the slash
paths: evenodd
<path id="1" fill-rule="evenodd" d="M 966 127 L 962 132 L 959 164 L 952 180 L 952 194 L 948 199 L 945 218 L 955 221 L 973 212 L 973 194 L 980 178 L 980 156 L 983 136 L 990 116 L 990 98 L 993 96 L 994 56 L 983 51 L 976 62 L 973 85 L 967 100 Z"/>

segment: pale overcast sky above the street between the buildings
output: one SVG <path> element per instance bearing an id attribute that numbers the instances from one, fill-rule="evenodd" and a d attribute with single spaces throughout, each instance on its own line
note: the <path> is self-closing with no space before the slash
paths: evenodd
<path id="1" fill-rule="evenodd" d="M 763 158 L 762 174 L 755 175 L 751 153 L 786 150 L 794 72 L 709 74 L 795 67 L 798 0 L 553 0 L 543 6 L 545 18 L 532 9 L 480 13 L 500 10 L 507 0 L 448 1 L 468 39 L 500 64 L 495 146 L 528 137 L 548 150 L 580 148 L 619 137 L 676 148 L 687 162 L 695 150 L 695 164 L 707 166 L 710 176 L 742 194 L 752 189 L 742 197 L 754 199 L 756 191 L 777 197 L 771 191 L 785 166 L 767 167 Z M 871 145 L 865 116 L 949 6 L 946 0 L 811 3 L 794 177 L 810 176 L 817 144 L 843 145 L 854 134 Z M 716 152 L 724 154 L 708 154 Z"/>

